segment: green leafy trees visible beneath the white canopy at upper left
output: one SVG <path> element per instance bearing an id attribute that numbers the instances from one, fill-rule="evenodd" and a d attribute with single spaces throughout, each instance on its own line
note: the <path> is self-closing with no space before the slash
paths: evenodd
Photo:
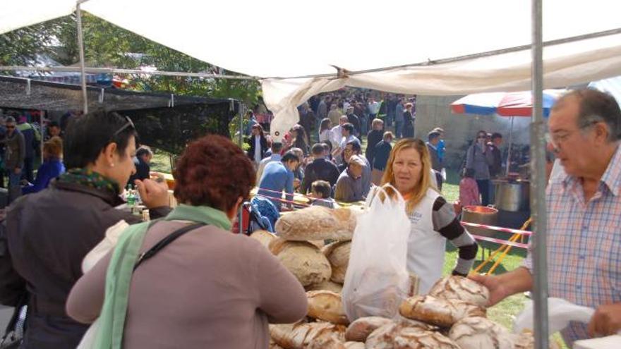
<path id="1" fill-rule="evenodd" d="M 136 69 L 153 66 L 159 71 L 217 73 L 221 69 L 157 44 L 105 20 L 83 13 L 85 61 L 88 66 Z M 78 62 L 76 17 L 67 16 L 0 35 L 0 64 L 32 64 L 36 54 L 49 54 L 64 65 Z M 227 73 L 231 74 L 231 73 Z M 131 88 L 215 98 L 234 98 L 253 106 L 260 85 L 252 80 L 133 75 Z"/>

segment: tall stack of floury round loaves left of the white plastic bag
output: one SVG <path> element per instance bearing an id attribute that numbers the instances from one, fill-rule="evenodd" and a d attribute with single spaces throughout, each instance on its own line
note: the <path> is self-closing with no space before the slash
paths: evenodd
<path id="1" fill-rule="evenodd" d="M 340 293 L 355 228 L 353 210 L 311 206 L 284 214 L 275 226 L 278 237 L 265 231 L 251 237 L 260 240 L 306 290 Z M 325 245 L 325 240 L 333 242 Z"/>

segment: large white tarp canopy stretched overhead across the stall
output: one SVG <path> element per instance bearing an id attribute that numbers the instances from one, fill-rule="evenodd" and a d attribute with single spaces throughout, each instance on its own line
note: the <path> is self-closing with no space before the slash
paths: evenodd
<path id="1" fill-rule="evenodd" d="M 0 3 L 0 33 L 64 16 L 75 0 Z M 334 73 L 445 59 L 531 42 L 530 1 L 152 1 L 89 0 L 82 8 L 185 54 L 262 78 Z M 621 1 L 543 1 L 543 39 L 621 27 Z M 545 86 L 618 75 L 621 40 L 545 49 Z M 275 126 L 287 130 L 297 104 L 344 85 L 418 94 L 530 87 L 530 53 L 402 68 L 347 79 L 263 80 Z"/>

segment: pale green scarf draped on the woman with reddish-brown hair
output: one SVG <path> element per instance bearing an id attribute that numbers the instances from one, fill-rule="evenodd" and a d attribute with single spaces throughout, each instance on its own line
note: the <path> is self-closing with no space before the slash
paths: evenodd
<path id="1" fill-rule="evenodd" d="M 206 206 L 180 204 L 164 220 L 193 221 L 231 230 L 231 221 L 224 212 Z M 106 274 L 106 296 L 95 340 L 96 349 L 122 347 L 131 276 L 148 228 L 149 222 L 129 226 L 114 248 Z"/>

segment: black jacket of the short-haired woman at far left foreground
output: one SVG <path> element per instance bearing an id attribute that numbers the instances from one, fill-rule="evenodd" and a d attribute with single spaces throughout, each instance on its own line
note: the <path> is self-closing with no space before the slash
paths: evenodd
<path id="1" fill-rule="evenodd" d="M 67 317 L 65 302 L 82 276 L 82 260 L 104 238 L 110 226 L 140 217 L 115 209 L 122 200 L 112 192 L 54 180 L 46 190 L 20 197 L 6 213 L 6 255 L 0 260 L 0 300 L 30 294 L 25 346 L 76 348 L 88 325 Z M 151 210 L 151 217 L 168 214 Z M 0 257 L 1 258 L 1 257 Z"/>

